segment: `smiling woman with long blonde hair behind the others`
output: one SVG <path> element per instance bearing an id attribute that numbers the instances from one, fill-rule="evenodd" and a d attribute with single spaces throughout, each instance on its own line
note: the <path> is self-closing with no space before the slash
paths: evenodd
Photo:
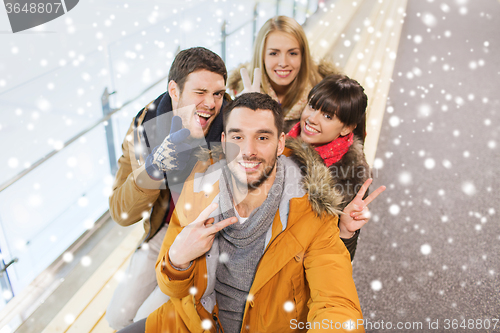
<path id="1" fill-rule="evenodd" d="M 244 88 L 241 68 L 248 69 L 251 80 L 255 80 L 255 69 L 262 70 L 261 91 L 281 104 L 285 130 L 299 121 L 312 87 L 326 75 L 337 72 L 328 61 L 316 64 L 312 60 L 304 30 L 287 16 L 276 16 L 264 23 L 255 39 L 250 63 L 230 73 L 228 87 L 235 95 Z"/>

